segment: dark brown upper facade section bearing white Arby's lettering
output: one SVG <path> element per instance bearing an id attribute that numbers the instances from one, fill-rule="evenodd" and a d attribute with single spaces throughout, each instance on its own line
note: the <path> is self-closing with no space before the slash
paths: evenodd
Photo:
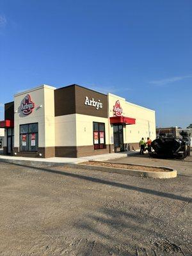
<path id="1" fill-rule="evenodd" d="M 108 96 L 72 84 L 54 90 L 55 116 L 82 114 L 108 118 Z"/>

